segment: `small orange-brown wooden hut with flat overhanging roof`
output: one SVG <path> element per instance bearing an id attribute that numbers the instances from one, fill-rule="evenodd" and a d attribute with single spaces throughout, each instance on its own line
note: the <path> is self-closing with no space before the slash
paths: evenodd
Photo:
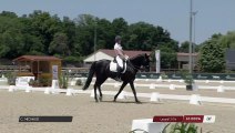
<path id="1" fill-rule="evenodd" d="M 51 85 L 52 80 L 58 80 L 61 73 L 61 59 L 45 55 L 22 55 L 13 60 L 19 66 L 18 76 L 34 76 Z"/>

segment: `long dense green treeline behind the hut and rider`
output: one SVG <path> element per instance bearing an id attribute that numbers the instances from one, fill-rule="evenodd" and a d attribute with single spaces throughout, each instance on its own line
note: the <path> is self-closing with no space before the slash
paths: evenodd
<path id="1" fill-rule="evenodd" d="M 35 10 L 30 14 L 18 17 L 14 12 L 0 13 L 0 58 L 17 58 L 22 54 L 57 54 L 67 57 L 68 61 L 82 60 L 94 52 L 94 33 L 96 31 L 96 50 L 113 49 L 115 35 L 122 35 L 125 50 L 177 51 L 177 42 L 162 27 L 146 22 L 131 25 L 123 19 L 113 21 L 99 19 L 91 14 L 80 14 L 71 20 L 62 20 L 49 12 Z M 171 50 L 168 50 L 171 49 Z M 174 59 L 166 58 L 170 62 Z M 163 59 L 164 60 L 164 59 Z M 167 60 L 165 62 L 167 62 Z M 166 68 L 173 64 L 167 64 Z"/>

